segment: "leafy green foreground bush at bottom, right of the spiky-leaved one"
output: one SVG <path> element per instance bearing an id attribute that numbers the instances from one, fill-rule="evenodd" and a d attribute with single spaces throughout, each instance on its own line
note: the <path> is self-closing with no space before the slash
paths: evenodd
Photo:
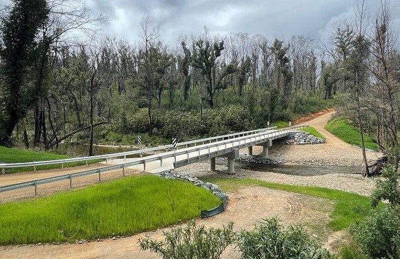
<path id="1" fill-rule="evenodd" d="M 238 238 L 242 258 L 331 258 L 301 226 L 283 229 L 278 218 L 270 218 L 254 231 L 242 231 Z"/>

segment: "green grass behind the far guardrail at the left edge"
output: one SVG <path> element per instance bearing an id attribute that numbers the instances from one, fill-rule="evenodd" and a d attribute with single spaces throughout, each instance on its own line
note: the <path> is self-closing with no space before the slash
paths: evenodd
<path id="1" fill-rule="evenodd" d="M 12 163 L 26 163 L 26 162 L 39 162 L 48 160 L 63 160 L 71 158 L 68 155 L 59 155 L 56 153 L 50 153 L 45 151 L 30 151 L 26 149 L 18 148 L 7 148 L 0 146 L 0 164 L 12 164 Z M 88 161 L 88 164 L 94 164 L 99 162 L 99 160 Z M 63 164 L 64 167 L 72 167 L 86 164 L 83 162 L 68 162 Z M 37 170 L 47 170 L 61 168 L 61 164 L 49 164 L 44 166 L 36 166 Z M 24 171 L 33 171 L 33 166 L 28 167 L 18 167 L 14 169 L 6 169 L 6 173 L 18 173 Z"/>

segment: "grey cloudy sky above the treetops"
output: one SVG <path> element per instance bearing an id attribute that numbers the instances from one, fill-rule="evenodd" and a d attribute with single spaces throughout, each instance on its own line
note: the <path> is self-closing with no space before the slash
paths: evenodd
<path id="1" fill-rule="evenodd" d="M 306 35 L 316 41 L 326 39 L 334 23 L 352 19 L 356 0 L 83 0 L 93 15 L 103 14 L 110 23 L 107 35 L 132 43 L 139 41 L 139 26 L 149 17 L 159 26 L 161 40 L 174 46 L 180 35 L 200 35 L 204 26 L 211 35 L 244 32 L 269 39 L 290 39 Z M 397 0 L 391 0 L 392 6 Z M 379 0 L 368 0 L 374 15 Z M 7 0 L 0 0 L 7 3 Z M 400 6 L 393 10 L 400 28 Z"/>

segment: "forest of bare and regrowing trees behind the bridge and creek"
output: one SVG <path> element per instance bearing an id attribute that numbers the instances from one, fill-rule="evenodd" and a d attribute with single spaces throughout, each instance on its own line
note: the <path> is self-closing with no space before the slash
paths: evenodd
<path id="1" fill-rule="evenodd" d="M 326 44 L 204 27 L 168 46 L 148 17 L 132 43 L 102 35 L 107 17 L 82 2 L 14 0 L 0 21 L 0 145 L 79 142 L 93 155 L 110 136 L 186 140 L 335 106 L 397 164 L 399 28 L 388 2 L 372 18 L 366 8 L 357 3 Z"/>

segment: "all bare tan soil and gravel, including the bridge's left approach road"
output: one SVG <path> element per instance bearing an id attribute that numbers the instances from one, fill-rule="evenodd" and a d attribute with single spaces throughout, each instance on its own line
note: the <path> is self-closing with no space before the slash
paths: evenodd
<path id="1" fill-rule="evenodd" d="M 309 124 L 317 129 L 326 137 L 325 144 L 314 145 L 273 145 L 270 148 L 270 156 L 279 158 L 287 164 L 332 164 L 354 166 L 354 170 L 362 164 L 361 150 L 328 133 L 325 126 L 334 111 L 323 111 L 321 113 L 309 115 L 294 124 Z M 246 153 L 247 149 L 241 150 Z M 254 147 L 253 153 L 262 153 L 261 147 Z M 379 154 L 367 152 L 369 160 L 375 160 Z M 217 171 L 208 171 L 208 163 L 190 164 L 177 169 L 176 173 L 189 173 L 195 176 L 226 176 L 226 164 L 219 161 Z M 99 166 L 99 165 L 92 165 Z M 88 169 L 87 167 L 84 167 Z M 339 168 L 339 167 L 338 167 Z M 61 173 L 66 174 L 77 169 L 64 169 Z M 18 175 L 0 175 L 0 185 L 10 184 L 11 182 L 23 182 L 32 178 L 43 178 L 60 171 L 47 171 L 40 173 L 23 173 Z M 126 175 L 137 172 L 126 171 Z M 45 176 L 47 175 L 47 176 Z M 105 173 L 101 180 L 108 180 L 121 177 L 121 171 Z M 269 182 L 283 182 L 287 184 L 302 184 L 308 186 L 323 186 L 331 189 L 351 191 L 363 195 L 369 195 L 374 186 L 372 179 L 362 178 L 361 175 L 346 175 L 341 172 L 329 175 L 318 176 L 297 176 L 283 175 L 279 173 L 257 172 L 244 169 L 236 169 L 234 177 L 257 178 Z M 73 180 L 74 188 L 98 182 L 98 175 L 87 178 L 77 178 Z M 69 189 L 69 180 L 55 184 L 44 184 L 39 186 L 39 195 L 48 195 L 58 191 Z M 299 195 L 286 191 L 266 189 L 259 186 L 251 186 L 228 193 L 228 207 L 226 211 L 211 218 L 197 219 L 197 224 L 204 224 L 206 227 L 218 228 L 228 222 L 234 222 L 234 230 L 253 229 L 254 224 L 258 224 L 263 218 L 270 218 L 277 215 L 282 224 L 303 224 L 314 238 L 317 238 L 323 246 L 335 251 L 346 239 L 344 231 L 332 232 L 326 229 L 329 222 L 329 214 L 333 204 L 328 200 L 313 198 L 307 195 Z M 8 200 L 19 200 L 34 198 L 34 189 L 22 189 L 1 193 L 0 202 Z M 98 241 L 76 242 L 74 244 L 29 244 L 18 246 L 0 247 L 0 258 L 161 258 L 150 251 L 141 251 L 137 240 L 143 236 L 162 239 L 163 231 L 159 229 L 147 233 L 140 233 L 130 237 L 110 237 Z M 221 258 L 239 258 L 240 254 L 234 247 L 228 247 Z"/>

